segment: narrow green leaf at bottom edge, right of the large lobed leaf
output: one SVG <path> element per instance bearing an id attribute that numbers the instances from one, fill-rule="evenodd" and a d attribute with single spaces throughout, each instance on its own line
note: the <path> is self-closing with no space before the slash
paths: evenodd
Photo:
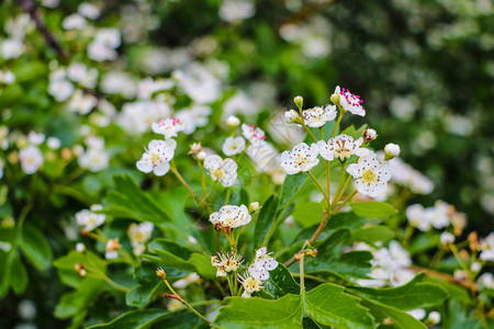
<path id="1" fill-rule="evenodd" d="M 379 303 L 374 303 L 368 299 L 362 299 L 362 305 L 369 308 L 371 314 L 379 320 L 384 320 L 385 318 L 390 318 L 393 321 L 393 325 L 396 328 L 401 329 L 426 329 L 427 327 L 416 320 L 409 314 L 396 309 L 391 306 L 382 305 Z"/>

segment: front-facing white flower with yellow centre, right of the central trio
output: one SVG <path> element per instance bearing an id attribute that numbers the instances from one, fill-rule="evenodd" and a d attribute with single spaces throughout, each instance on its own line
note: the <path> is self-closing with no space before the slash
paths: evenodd
<path id="1" fill-rule="evenodd" d="M 388 181 L 391 179 L 390 166 L 381 162 L 374 152 L 361 157 L 357 163 L 351 163 L 347 172 L 356 179 L 355 185 L 361 194 L 377 197 L 388 191 Z"/>

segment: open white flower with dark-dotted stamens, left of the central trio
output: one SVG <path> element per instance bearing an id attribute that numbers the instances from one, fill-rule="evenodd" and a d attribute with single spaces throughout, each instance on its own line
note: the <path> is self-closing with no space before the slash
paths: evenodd
<path id="1" fill-rule="evenodd" d="M 281 167 L 288 174 L 294 174 L 300 171 L 310 171 L 319 163 L 317 159 L 317 145 L 312 144 L 308 147 L 305 143 L 297 144 L 291 151 L 281 154 Z"/>

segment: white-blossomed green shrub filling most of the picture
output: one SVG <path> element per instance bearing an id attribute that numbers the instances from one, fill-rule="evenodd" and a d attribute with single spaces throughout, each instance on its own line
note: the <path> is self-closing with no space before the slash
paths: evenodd
<path id="1" fill-rule="evenodd" d="M 418 202 L 437 185 L 400 158 L 408 141 L 363 123 L 375 95 L 324 84 L 322 104 L 277 112 L 266 81 L 232 86 L 249 64 L 216 49 L 254 2 L 221 1 L 228 27 L 173 48 L 153 43 L 153 1 L 40 4 L 0 9 L 1 326 L 10 305 L 16 328 L 36 311 L 71 328 L 492 326 L 494 234 Z M 324 22 L 281 24 L 290 54 L 328 55 Z M 269 73 L 281 58 L 252 60 Z M 404 122 L 415 111 L 390 103 Z"/>

